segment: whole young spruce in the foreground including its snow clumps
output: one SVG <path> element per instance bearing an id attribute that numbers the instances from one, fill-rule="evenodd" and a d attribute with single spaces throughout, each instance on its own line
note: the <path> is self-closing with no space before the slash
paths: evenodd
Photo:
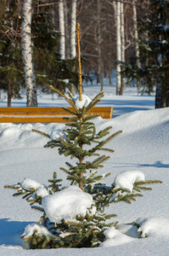
<path id="1" fill-rule="evenodd" d="M 79 26 L 76 33 L 78 37 Z M 80 61 L 80 55 L 78 59 Z M 27 225 L 21 236 L 31 249 L 99 247 L 106 240 L 108 229 L 117 223 L 107 221 L 116 215 L 106 214 L 105 207 L 119 201 L 131 203 L 137 196 L 142 196 L 141 189 L 150 189 L 147 184 L 161 182 L 146 181 L 143 172 L 135 171 L 121 172 L 109 186 L 103 183 L 104 177 L 110 176 L 110 173 L 98 174 L 98 169 L 103 168 L 104 161 L 110 159 L 107 154 L 114 152 L 106 145 L 121 131 L 110 133 L 111 126 L 97 131 L 93 119 L 99 115 L 88 112 L 100 102 L 104 93 L 100 92 L 92 101 L 82 94 L 80 62 L 78 97 L 73 98 L 69 92 L 65 96 L 54 87 L 51 89 L 70 104 L 71 109 L 64 109 L 72 116 L 65 118 L 67 123 L 63 131 L 52 131 L 51 135 L 33 131 L 47 137 L 45 147 L 58 148 L 60 155 L 70 157 L 71 162 L 65 163 L 67 168 L 60 167 L 60 171 L 66 173 L 70 186 L 63 187 L 62 180 L 54 172 L 48 186 L 25 178 L 6 188 L 17 189 L 14 195 L 22 195 L 32 208 L 42 212 L 37 224 Z"/>

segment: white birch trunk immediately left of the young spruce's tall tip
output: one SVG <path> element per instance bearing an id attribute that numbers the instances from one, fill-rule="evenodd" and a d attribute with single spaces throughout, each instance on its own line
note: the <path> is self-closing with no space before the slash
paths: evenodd
<path id="1" fill-rule="evenodd" d="M 70 35 L 70 49 L 71 58 L 76 57 L 76 0 L 71 3 L 71 35 Z"/>

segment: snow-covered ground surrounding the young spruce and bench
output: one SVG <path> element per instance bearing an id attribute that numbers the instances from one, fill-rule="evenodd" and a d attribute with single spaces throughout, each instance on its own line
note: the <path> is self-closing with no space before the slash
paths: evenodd
<path id="1" fill-rule="evenodd" d="M 86 85 L 84 93 L 93 98 L 99 92 L 99 86 Z M 96 119 L 98 129 L 113 126 L 113 132 L 122 130 L 122 134 L 110 142 L 109 148 L 115 153 L 104 163 L 100 173 L 111 172 L 104 182 L 111 184 L 117 174 L 124 171 L 144 172 L 146 179 L 162 180 L 162 184 L 153 185 L 152 191 L 144 192 L 144 197 L 125 203 L 112 204 L 108 213 L 117 214 L 118 230 L 113 228 L 105 236 L 103 247 L 85 249 L 25 250 L 20 236 L 27 224 L 36 223 L 41 213 L 31 210 L 21 197 L 14 198 L 13 190 L 4 189 L 6 184 L 21 182 L 25 177 L 48 185 L 53 172 L 63 178 L 65 173 L 59 167 L 65 166 L 65 157 L 57 149 L 43 148 L 48 142 L 46 137 L 32 133 L 36 128 L 49 134 L 62 129 L 64 124 L 0 124 L 0 255 L 168 255 L 169 251 L 169 108 L 155 110 L 154 96 L 138 96 L 134 88 L 127 88 L 124 96 L 115 96 L 114 86 L 104 86 L 104 99 L 100 106 L 113 106 L 113 119 Z M 40 94 L 39 106 L 67 106 L 65 100 L 54 100 L 48 94 Z M 6 107 L 0 102 L 0 107 Z M 14 100 L 13 107 L 25 106 L 25 97 Z M 130 172 L 128 172 L 130 173 Z M 137 238 L 135 221 L 140 225 L 142 236 Z"/>

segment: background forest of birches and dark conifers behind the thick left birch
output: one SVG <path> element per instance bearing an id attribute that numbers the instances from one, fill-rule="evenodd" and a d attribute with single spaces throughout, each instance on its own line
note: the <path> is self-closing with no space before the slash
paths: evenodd
<path id="1" fill-rule="evenodd" d="M 26 1 L 0 2 L 0 87 L 8 90 L 8 106 L 12 97 L 20 96 L 20 86 L 25 86 L 21 27 Z M 33 0 L 31 49 L 36 88 L 41 85 L 45 90 L 53 84 L 60 90 L 76 90 L 75 30 L 79 22 L 84 77 L 94 73 L 104 90 L 104 77 L 112 84 L 112 70 L 116 70 L 117 95 L 122 95 L 127 84 L 137 84 L 139 93 L 151 93 L 156 85 L 155 107 L 168 107 L 168 9 L 164 0 Z"/>

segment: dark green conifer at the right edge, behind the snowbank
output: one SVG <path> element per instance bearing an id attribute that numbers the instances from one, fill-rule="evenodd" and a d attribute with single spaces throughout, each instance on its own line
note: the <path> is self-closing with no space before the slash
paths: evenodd
<path id="1" fill-rule="evenodd" d="M 156 85 L 155 108 L 166 108 L 169 106 L 169 2 L 151 0 L 146 9 L 138 19 L 141 67 L 135 57 L 121 65 L 129 84 L 141 81 L 142 92 L 150 94 Z"/>

